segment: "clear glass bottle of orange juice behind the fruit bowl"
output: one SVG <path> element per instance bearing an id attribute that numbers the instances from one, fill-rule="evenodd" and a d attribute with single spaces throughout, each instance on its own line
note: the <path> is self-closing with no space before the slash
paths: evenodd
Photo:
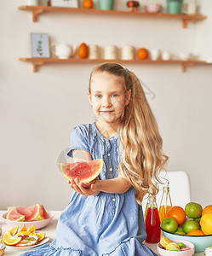
<path id="1" fill-rule="evenodd" d="M 160 201 L 159 217 L 161 222 L 165 218 L 166 212 L 168 212 L 171 207 L 172 207 L 172 203 L 171 203 L 171 197 L 169 194 L 169 182 L 168 182 L 167 186 L 163 187 L 163 195 Z"/>

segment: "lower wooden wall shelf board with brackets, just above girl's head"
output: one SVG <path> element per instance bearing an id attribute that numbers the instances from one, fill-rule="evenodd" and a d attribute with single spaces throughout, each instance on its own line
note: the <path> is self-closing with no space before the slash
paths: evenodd
<path id="1" fill-rule="evenodd" d="M 45 63 L 101 63 L 101 62 L 116 62 L 116 63 L 126 63 L 126 64 L 179 64 L 181 66 L 181 72 L 186 72 L 186 67 L 193 67 L 195 65 L 209 64 L 207 61 L 180 61 L 180 60 L 170 60 L 170 61 L 152 61 L 152 60 L 134 60 L 134 61 L 124 61 L 124 60 L 89 60 L 89 59 L 55 59 L 55 58 L 20 58 L 20 61 L 32 62 L 33 72 L 38 71 L 38 67 L 44 65 Z"/>

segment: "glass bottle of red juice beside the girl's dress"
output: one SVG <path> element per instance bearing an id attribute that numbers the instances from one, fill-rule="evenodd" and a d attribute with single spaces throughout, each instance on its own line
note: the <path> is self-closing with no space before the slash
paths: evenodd
<path id="1" fill-rule="evenodd" d="M 155 195 L 150 195 L 149 207 L 146 212 L 146 242 L 155 243 L 160 241 L 160 218 Z"/>

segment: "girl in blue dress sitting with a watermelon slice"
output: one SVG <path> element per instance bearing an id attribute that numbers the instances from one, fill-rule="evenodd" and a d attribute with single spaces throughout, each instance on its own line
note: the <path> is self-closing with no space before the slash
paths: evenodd
<path id="1" fill-rule="evenodd" d="M 104 160 L 93 183 L 70 181 L 75 192 L 61 214 L 56 239 L 24 255 L 156 255 L 142 244 L 141 202 L 168 157 L 139 79 L 118 64 L 92 71 L 89 103 L 96 122 L 72 131 L 69 156 Z"/>

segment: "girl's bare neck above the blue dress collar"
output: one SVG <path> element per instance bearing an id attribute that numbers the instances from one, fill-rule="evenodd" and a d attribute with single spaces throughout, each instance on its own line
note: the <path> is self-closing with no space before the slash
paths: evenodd
<path id="1" fill-rule="evenodd" d="M 95 122 L 96 128 L 100 131 L 100 134 L 107 139 L 110 139 L 117 133 L 118 124 L 110 124 L 98 120 Z"/>

